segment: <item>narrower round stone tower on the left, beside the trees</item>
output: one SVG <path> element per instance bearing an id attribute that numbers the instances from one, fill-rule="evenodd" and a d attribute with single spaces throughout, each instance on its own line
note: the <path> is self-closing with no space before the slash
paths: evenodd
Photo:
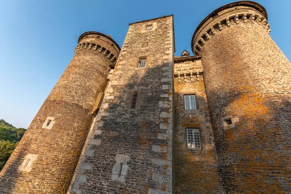
<path id="1" fill-rule="evenodd" d="M 75 56 L 0 173 L 0 193 L 66 192 L 120 48 L 111 36 L 85 32 Z M 53 69 L 44 72 L 49 78 Z"/>

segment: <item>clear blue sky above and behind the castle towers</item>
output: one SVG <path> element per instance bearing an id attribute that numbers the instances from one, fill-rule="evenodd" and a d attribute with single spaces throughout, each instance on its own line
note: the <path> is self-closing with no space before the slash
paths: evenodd
<path id="1" fill-rule="evenodd" d="M 2 0 L 0 118 L 27 128 L 74 56 L 81 33 L 111 34 L 122 46 L 129 23 L 174 14 L 176 56 L 197 25 L 233 0 Z M 291 59 L 291 0 L 258 0 L 271 37 Z M 191 54 L 193 54 L 191 52 Z"/>

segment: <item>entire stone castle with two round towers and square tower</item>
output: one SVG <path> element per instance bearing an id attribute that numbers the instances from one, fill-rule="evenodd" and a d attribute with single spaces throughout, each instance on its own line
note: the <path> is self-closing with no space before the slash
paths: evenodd
<path id="1" fill-rule="evenodd" d="M 291 192 L 291 64 L 265 8 L 226 4 L 175 57 L 173 16 L 81 34 L 0 193 Z"/>

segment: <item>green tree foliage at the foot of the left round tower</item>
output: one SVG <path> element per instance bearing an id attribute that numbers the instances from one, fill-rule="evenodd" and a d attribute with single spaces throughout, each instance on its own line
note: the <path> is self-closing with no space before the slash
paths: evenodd
<path id="1" fill-rule="evenodd" d="M 13 125 L 0 119 L 0 170 L 9 159 L 13 150 L 25 133 L 24 128 L 15 128 Z"/>

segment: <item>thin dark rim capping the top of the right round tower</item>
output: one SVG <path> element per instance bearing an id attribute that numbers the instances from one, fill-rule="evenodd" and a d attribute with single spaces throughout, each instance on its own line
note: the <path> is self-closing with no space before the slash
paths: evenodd
<path id="1" fill-rule="evenodd" d="M 264 6 L 262 6 L 261 4 L 259 4 L 258 2 L 252 1 L 252 0 L 240 0 L 240 1 L 235 1 L 232 3 L 228 3 L 226 5 L 223 5 L 217 9 L 215 9 L 213 12 L 211 12 L 207 17 L 205 17 L 200 24 L 197 26 L 193 36 L 192 36 L 192 40 L 191 40 L 191 49 L 192 52 L 194 53 L 193 50 L 193 41 L 194 41 L 194 37 L 196 35 L 196 33 L 199 31 L 199 29 L 207 22 L 209 21 L 210 18 L 215 18 L 215 16 L 218 15 L 219 12 L 226 10 L 228 8 L 232 8 L 232 7 L 237 7 L 237 6 L 246 6 L 246 7 L 251 7 L 253 9 L 256 9 L 258 12 L 260 12 L 262 14 L 262 16 L 264 16 L 267 20 L 268 20 L 268 14 L 267 14 L 267 10 Z"/>

